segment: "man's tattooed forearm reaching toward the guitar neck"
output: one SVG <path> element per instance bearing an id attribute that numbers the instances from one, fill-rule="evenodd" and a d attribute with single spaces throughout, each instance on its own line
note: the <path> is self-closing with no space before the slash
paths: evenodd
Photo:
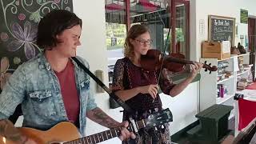
<path id="1" fill-rule="evenodd" d="M 95 108 L 94 110 L 90 110 L 87 112 L 87 116 L 93 120 L 101 124 L 102 126 L 106 126 L 108 128 L 118 127 L 120 124 L 116 122 L 113 118 L 110 118 L 106 113 L 104 113 L 100 108 Z"/>

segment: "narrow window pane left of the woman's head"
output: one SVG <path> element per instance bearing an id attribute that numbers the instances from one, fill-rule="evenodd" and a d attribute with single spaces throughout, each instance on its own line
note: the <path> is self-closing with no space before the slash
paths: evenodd
<path id="1" fill-rule="evenodd" d="M 106 47 L 109 82 L 112 82 L 114 64 L 123 58 L 123 45 L 126 38 L 126 2 L 106 0 Z"/>

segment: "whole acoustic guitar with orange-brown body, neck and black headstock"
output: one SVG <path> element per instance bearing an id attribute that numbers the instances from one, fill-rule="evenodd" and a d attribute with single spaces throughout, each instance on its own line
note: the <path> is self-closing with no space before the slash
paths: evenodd
<path id="1" fill-rule="evenodd" d="M 134 124 L 139 130 L 142 128 L 159 126 L 166 122 L 172 122 L 172 120 L 173 117 L 170 110 L 166 109 L 155 114 L 150 114 L 148 118 L 134 122 Z M 38 144 L 94 144 L 118 137 L 120 135 L 121 127 L 102 131 L 101 133 L 92 134 L 83 138 L 80 138 L 77 127 L 71 122 L 60 122 L 50 128 L 50 130 L 46 131 L 26 127 L 18 128 L 18 130 Z M 129 124 L 127 130 L 135 131 L 132 124 Z M 8 141 L 5 137 L 0 136 L 0 144 L 14 143 L 15 142 Z"/>

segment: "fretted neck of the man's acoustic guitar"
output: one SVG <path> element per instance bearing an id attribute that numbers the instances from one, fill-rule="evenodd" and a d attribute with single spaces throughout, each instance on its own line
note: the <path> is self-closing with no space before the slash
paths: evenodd
<path id="1" fill-rule="evenodd" d="M 145 120 L 143 119 L 141 121 L 135 122 L 135 124 L 137 125 L 138 129 L 142 129 L 146 127 Z M 129 124 L 129 126 L 127 126 L 126 129 L 129 130 L 130 132 L 134 132 L 134 128 L 133 126 L 131 126 L 131 124 Z M 92 134 L 83 138 L 78 138 L 70 142 L 64 142 L 64 144 L 71 144 L 71 143 L 72 144 L 76 144 L 76 143 L 77 144 L 95 144 L 98 142 L 106 141 L 110 138 L 118 137 L 120 134 L 121 134 L 121 127 L 118 127 L 111 130 L 102 131 L 97 134 Z"/>

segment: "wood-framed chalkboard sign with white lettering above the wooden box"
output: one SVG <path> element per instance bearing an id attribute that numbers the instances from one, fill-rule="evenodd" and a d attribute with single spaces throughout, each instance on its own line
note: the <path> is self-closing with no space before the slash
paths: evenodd
<path id="1" fill-rule="evenodd" d="M 230 41 L 234 46 L 235 18 L 209 15 L 208 40 Z"/>

